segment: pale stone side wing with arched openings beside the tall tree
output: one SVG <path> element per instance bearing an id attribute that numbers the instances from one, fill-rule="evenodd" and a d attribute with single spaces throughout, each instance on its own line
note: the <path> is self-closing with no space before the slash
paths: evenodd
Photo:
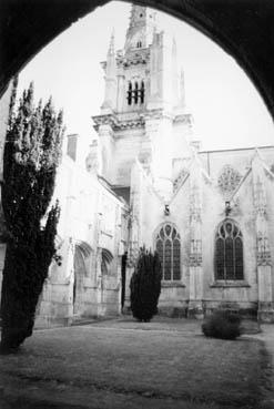
<path id="1" fill-rule="evenodd" d="M 121 256 L 125 252 L 121 228 L 126 206 L 95 174 L 68 156 L 58 173 L 55 198 L 61 205 L 57 245 L 62 264 L 52 262 L 37 311 L 37 327 L 118 315 Z M 102 267 L 103 252 L 110 257 L 106 269 Z"/>

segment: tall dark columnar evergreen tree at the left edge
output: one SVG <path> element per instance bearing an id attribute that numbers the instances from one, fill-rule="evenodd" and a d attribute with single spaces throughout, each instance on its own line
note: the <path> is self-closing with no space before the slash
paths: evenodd
<path id="1" fill-rule="evenodd" d="M 14 111 L 12 93 L 3 159 L 7 252 L 1 297 L 1 350 L 31 336 L 35 307 L 53 257 L 60 208 L 50 209 L 63 137 L 62 112 L 51 99 L 33 103 L 33 84 Z"/>

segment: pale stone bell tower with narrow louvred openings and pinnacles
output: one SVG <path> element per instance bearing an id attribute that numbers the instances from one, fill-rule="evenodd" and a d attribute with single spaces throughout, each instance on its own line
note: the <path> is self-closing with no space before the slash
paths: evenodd
<path id="1" fill-rule="evenodd" d="M 102 152 L 102 175 L 113 187 L 130 188 L 138 159 L 162 197 L 172 194 L 173 159 L 190 150 L 192 116 L 185 109 L 176 43 L 156 24 L 156 13 L 132 6 L 125 42 L 111 35 L 100 115 L 92 116 Z"/>

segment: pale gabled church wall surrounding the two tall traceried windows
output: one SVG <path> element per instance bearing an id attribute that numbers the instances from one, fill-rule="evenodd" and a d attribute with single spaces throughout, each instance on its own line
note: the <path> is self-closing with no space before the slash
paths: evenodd
<path id="1" fill-rule="evenodd" d="M 264 162 L 266 157 L 268 163 L 273 160 L 273 149 L 264 149 L 264 155 L 257 156 L 260 166 L 263 168 L 264 184 L 266 190 L 266 224 L 268 226 L 270 253 L 274 255 L 274 174 L 270 172 L 270 166 Z M 197 171 L 191 165 L 189 172 L 181 181 L 181 185 L 174 193 L 170 204 L 169 214 L 164 212 L 164 201 L 155 192 L 151 180 L 144 174 L 140 165 L 135 165 L 133 181 L 132 200 L 139 208 L 139 244 L 145 245 L 148 248 L 154 249 L 155 232 L 164 223 L 174 224 L 181 235 L 181 280 L 179 282 L 162 282 L 162 293 L 160 296 L 159 307 L 161 314 L 169 315 L 185 315 L 189 308 L 191 294 L 202 290 L 202 307 L 204 313 L 210 313 L 219 308 L 222 304 L 229 303 L 231 308 L 240 309 L 246 315 L 256 315 L 260 301 L 258 288 L 258 262 L 257 262 L 257 231 L 256 231 L 256 193 L 254 193 L 254 177 L 252 163 L 256 155 L 261 153 L 255 150 L 243 150 L 216 153 L 215 157 L 212 154 L 210 161 L 211 177 L 206 175 L 202 163 Z M 220 184 L 220 174 L 223 172 L 224 165 L 230 164 L 232 170 L 241 172 L 240 180 L 234 181 L 235 186 L 231 182 L 223 186 Z M 200 170 L 199 170 L 199 166 Z M 265 166 L 265 167 L 264 167 Z M 202 188 L 202 264 L 201 288 L 193 293 L 194 285 L 191 279 L 191 214 L 193 212 L 192 195 L 192 172 L 201 174 Z M 205 173 L 204 173 L 205 172 Z M 139 182 L 136 182 L 139 181 Z M 136 188 L 134 183 L 139 183 Z M 227 192 L 226 188 L 233 187 Z M 227 196 L 229 195 L 229 196 Z M 230 197 L 230 213 L 225 213 L 225 201 Z M 196 205 L 195 205 L 196 206 Z M 133 205 L 134 208 L 134 205 Z M 225 217 L 234 221 L 240 227 L 243 235 L 243 264 L 244 277 L 242 280 L 222 282 L 215 279 L 214 272 L 214 252 L 215 252 L 215 234 L 217 226 Z M 261 267 L 260 267 L 261 268 Z M 272 272 L 270 276 L 270 285 L 273 293 L 273 266 L 267 267 L 267 272 Z M 194 272 L 194 270 L 193 270 Z M 263 275 L 265 276 L 265 275 Z M 268 273 L 267 273 L 268 277 Z M 268 283 L 268 282 L 267 282 Z M 195 284 L 196 285 L 196 284 Z M 261 286 L 264 285 L 261 283 Z M 262 290 L 262 289 L 261 289 Z M 265 287 L 264 297 L 267 298 L 267 288 Z M 273 296 L 272 296 L 273 297 Z M 272 303 L 274 299 L 272 300 Z M 261 301 L 260 301 L 261 303 Z M 268 316 L 272 314 L 267 313 Z M 267 319 L 273 319 L 267 318 Z"/>

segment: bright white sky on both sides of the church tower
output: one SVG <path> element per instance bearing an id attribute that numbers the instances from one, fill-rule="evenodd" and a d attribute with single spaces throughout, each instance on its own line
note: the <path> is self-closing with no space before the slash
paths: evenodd
<path id="1" fill-rule="evenodd" d="M 34 81 L 37 100 L 53 96 L 64 110 L 67 133 L 94 139 L 91 115 L 99 114 L 112 29 L 124 45 L 130 4 L 113 1 L 55 38 L 20 73 L 19 95 Z M 54 18 L 54 17 L 52 17 Z M 160 27 L 174 34 L 185 73 L 186 103 L 203 150 L 274 145 L 266 106 L 243 70 L 219 45 L 186 23 L 159 13 Z"/>

